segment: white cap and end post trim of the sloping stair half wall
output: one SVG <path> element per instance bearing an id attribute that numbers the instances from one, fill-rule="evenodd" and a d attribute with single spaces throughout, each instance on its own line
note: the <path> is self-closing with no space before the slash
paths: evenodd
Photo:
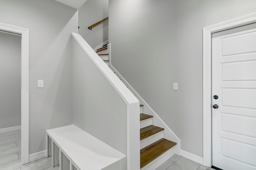
<path id="1" fill-rule="evenodd" d="M 138 99 L 77 33 L 72 37 L 127 105 L 127 170 L 140 170 L 140 108 Z"/>

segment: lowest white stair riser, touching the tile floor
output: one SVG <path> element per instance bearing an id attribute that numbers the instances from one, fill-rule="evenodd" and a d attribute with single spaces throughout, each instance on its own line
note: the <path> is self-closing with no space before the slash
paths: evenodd
<path id="1" fill-rule="evenodd" d="M 140 170 L 155 170 L 160 165 L 162 165 L 166 160 L 168 160 L 170 157 L 172 157 L 176 152 L 176 145 L 172 147 L 171 149 L 164 152 L 162 155 L 160 155 L 158 158 L 141 168 Z"/>

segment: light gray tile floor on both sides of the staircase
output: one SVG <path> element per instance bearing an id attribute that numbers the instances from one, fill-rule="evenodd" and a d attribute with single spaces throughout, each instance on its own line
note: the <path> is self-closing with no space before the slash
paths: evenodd
<path id="1" fill-rule="evenodd" d="M 20 131 L 0 134 L 0 170 L 59 170 L 51 167 L 52 158 L 21 164 Z M 212 170 L 182 156 L 174 155 L 156 170 Z"/>

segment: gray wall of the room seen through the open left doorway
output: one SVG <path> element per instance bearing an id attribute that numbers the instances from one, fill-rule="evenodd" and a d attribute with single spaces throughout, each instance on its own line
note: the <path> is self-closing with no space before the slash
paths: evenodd
<path id="1" fill-rule="evenodd" d="M 0 32 L 0 129 L 21 123 L 21 36 Z"/>

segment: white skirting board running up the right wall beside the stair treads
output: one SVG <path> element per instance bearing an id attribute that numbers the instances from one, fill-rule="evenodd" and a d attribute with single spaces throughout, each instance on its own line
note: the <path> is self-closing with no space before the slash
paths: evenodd
<path id="1" fill-rule="evenodd" d="M 176 150 L 176 154 L 180 154 L 180 139 L 175 135 L 175 133 L 166 125 L 166 123 L 164 123 L 164 121 L 156 114 L 156 112 L 145 102 L 145 100 L 134 90 L 134 88 L 132 88 L 132 86 L 124 79 L 124 77 L 116 70 L 116 68 L 114 68 L 114 66 L 112 65 L 111 62 L 111 43 L 109 43 L 110 45 L 110 63 L 109 63 L 109 67 L 115 72 L 116 76 L 118 76 L 118 78 L 121 79 L 121 81 L 128 87 L 128 89 L 132 92 L 132 94 L 134 94 L 136 96 L 136 98 L 138 98 L 138 100 L 140 101 L 140 104 L 144 105 L 144 112 L 146 114 L 152 115 L 153 119 L 154 119 L 154 125 L 159 126 L 159 127 L 163 127 L 164 130 L 164 134 L 165 134 L 165 138 L 170 140 L 170 141 L 174 141 L 177 143 L 177 150 Z"/>

